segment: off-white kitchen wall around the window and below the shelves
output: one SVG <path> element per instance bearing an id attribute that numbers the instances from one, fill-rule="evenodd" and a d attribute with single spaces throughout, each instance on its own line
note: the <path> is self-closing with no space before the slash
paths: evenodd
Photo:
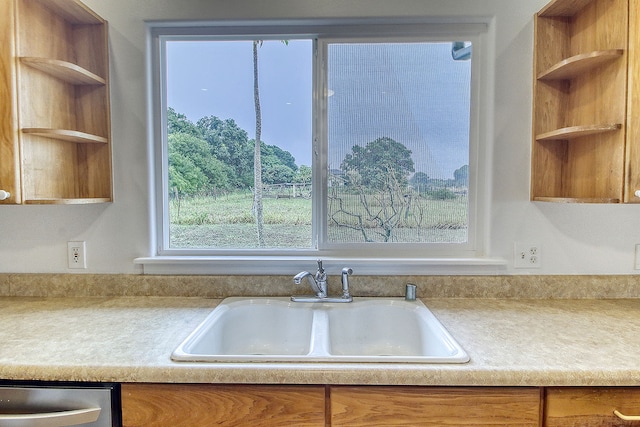
<path id="1" fill-rule="evenodd" d="M 529 202 L 533 13 L 545 0 L 85 0 L 110 23 L 115 201 L 0 207 L 0 272 L 69 272 L 66 242 L 87 242 L 87 273 L 135 273 L 152 255 L 145 20 L 416 15 L 492 16 L 495 135 L 491 256 L 509 274 L 634 274 L 640 206 Z M 513 243 L 542 245 L 542 268 L 512 268 Z M 428 271 L 425 271 L 428 274 Z"/>

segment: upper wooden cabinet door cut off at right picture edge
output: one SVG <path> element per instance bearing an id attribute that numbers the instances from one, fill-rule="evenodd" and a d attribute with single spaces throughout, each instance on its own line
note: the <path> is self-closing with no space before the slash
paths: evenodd
<path id="1" fill-rule="evenodd" d="M 627 93 L 627 177 L 625 201 L 640 203 L 640 0 L 629 3 L 629 83 Z"/>

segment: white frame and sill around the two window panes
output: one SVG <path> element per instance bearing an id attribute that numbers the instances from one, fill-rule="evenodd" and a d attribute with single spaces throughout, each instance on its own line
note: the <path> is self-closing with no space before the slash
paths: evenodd
<path id="1" fill-rule="evenodd" d="M 154 253 L 135 260 L 148 274 L 291 274 L 300 269 L 313 268 L 315 260 L 325 260 L 329 274 L 340 271 L 345 265 L 359 274 L 478 274 L 497 273 L 506 265 L 503 259 L 490 258 L 487 254 L 490 234 L 489 182 L 490 151 L 493 119 L 492 64 L 493 50 L 490 21 L 483 19 L 451 20 L 332 20 L 309 21 L 259 21 L 259 22 L 206 22 L 148 23 L 148 75 L 149 75 L 149 147 L 153 155 L 151 185 L 154 197 L 151 200 L 151 234 Z M 317 39 L 315 61 L 324 61 L 326 46 L 337 40 L 371 41 L 381 38 L 391 41 L 411 39 L 415 41 L 465 40 L 473 43 L 472 100 L 469 142 L 469 233 L 467 244 L 405 244 L 367 243 L 328 245 L 318 242 L 317 249 L 303 250 L 229 250 L 229 249 L 172 249 L 168 247 L 168 215 L 166 214 L 167 192 L 167 123 L 164 40 L 186 40 L 189 38 L 228 40 L 233 38 L 260 39 Z M 321 64 L 325 64 L 321 62 Z M 323 66 L 314 65 L 314 159 L 313 185 L 314 236 L 326 234 L 318 221 L 326 218 L 326 105 L 323 97 L 317 96 L 325 90 Z M 324 122 L 323 122 L 324 121 Z M 161 148 L 159 148 L 161 147 Z M 319 173 L 320 172 L 320 173 Z M 318 203 L 323 200 L 322 203 Z M 320 239 L 322 240 L 322 239 Z M 315 242 L 315 238 L 314 238 Z M 386 245 L 386 246 L 385 246 Z M 392 251 L 390 251 L 392 245 Z"/>

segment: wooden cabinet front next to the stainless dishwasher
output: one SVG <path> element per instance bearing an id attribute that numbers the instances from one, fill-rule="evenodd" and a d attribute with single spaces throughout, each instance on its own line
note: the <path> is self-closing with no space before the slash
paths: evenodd
<path id="1" fill-rule="evenodd" d="M 123 384 L 124 427 L 324 426 L 323 386 Z"/>

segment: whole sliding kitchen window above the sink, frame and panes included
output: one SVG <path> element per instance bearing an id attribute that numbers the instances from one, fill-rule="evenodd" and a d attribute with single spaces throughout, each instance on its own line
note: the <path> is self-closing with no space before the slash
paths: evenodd
<path id="1" fill-rule="evenodd" d="M 486 33 L 150 24 L 157 253 L 145 271 L 482 258 Z"/>

